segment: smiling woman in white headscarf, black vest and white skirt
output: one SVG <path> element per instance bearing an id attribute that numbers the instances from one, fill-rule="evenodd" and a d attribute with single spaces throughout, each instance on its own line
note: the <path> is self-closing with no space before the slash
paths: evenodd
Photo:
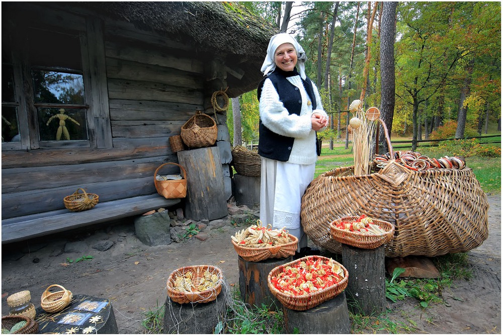
<path id="1" fill-rule="evenodd" d="M 300 225 L 300 203 L 319 155 L 316 131 L 328 124 L 314 83 L 306 77 L 304 49 L 291 35 L 269 41 L 259 84 L 260 219 L 299 239 L 297 257 L 310 254 Z M 298 67 L 298 70 L 297 70 Z"/>

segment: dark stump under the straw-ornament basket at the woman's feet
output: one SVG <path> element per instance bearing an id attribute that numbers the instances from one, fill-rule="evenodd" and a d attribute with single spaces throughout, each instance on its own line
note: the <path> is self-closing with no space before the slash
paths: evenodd
<path id="1" fill-rule="evenodd" d="M 238 257 L 239 291 L 243 302 L 253 306 L 281 307 L 280 301 L 271 293 L 267 277 L 273 268 L 293 261 L 293 256 L 285 259 L 266 259 L 259 262 L 246 261 Z"/>

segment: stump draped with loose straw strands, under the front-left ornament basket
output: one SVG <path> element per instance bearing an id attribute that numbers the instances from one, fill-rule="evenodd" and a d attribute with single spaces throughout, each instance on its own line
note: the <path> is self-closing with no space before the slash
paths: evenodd
<path id="1" fill-rule="evenodd" d="M 177 303 L 170 296 L 164 304 L 164 328 L 162 333 L 211 334 L 227 311 L 225 287 L 217 298 L 208 303 Z"/>

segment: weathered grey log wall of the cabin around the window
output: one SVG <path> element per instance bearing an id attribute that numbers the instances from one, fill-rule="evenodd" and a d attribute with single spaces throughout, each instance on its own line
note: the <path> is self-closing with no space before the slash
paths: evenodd
<path id="1" fill-rule="evenodd" d="M 92 116 L 88 145 L 27 149 L 3 143 L 2 218 L 62 209 L 63 197 L 79 187 L 98 194 L 100 202 L 155 193 L 155 169 L 178 162 L 169 138 L 180 134 L 195 110 L 213 115 L 211 93 L 225 87 L 218 60 L 205 64 L 211 55 L 124 22 L 27 3 L 12 10 L 22 11 L 23 18 L 14 26 L 38 20 L 41 26 L 75 26 L 86 37 L 89 59 L 83 63 L 89 72 L 83 76 Z M 13 64 L 22 74 L 24 61 L 15 56 Z M 208 78 L 211 73 L 217 76 Z M 27 78 L 18 75 L 15 81 L 20 78 L 23 115 L 24 104 L 29 110 L 33 102 Z"/>

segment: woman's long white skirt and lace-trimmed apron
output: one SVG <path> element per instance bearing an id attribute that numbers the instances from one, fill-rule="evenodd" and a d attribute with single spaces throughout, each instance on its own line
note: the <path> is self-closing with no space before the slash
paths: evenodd
<path id="1" fill-rule="evenodd" d="M 260 220 L 263 226 L 283 227 L 299 239 L 297 251 L 307 246 L 300 225 L 300 204 L 313 180 L 315 164 L 299 165 L 262 158 Z"/>

